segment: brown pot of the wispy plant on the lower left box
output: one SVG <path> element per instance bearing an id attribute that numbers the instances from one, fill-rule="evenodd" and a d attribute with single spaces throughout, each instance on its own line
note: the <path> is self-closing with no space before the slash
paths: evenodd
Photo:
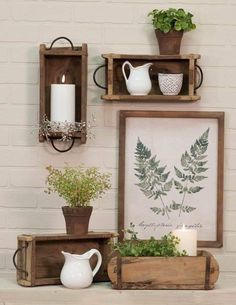
<path id="1" fill-rule="evenodd" d="M 62 207 L 63 215 L 66 222 L 66 233 L 83 235 L 88 233 L 89 219 L 93 207 Z"/>

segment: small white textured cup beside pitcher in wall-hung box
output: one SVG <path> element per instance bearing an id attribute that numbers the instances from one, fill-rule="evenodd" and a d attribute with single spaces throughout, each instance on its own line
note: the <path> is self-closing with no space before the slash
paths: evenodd
<path id="1" fill-rule="evenodd" d="M 183 84 L 183 73 L 158 73 L 158 83 L 163 95 L 178 95 Z"/>

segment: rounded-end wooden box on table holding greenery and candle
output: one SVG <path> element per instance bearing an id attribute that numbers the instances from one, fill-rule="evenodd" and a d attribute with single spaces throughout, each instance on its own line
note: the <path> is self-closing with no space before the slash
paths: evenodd
<path id="1" fill-rule="evenodd" d="M 185 257 L 113 257 L 108 276 L 114 289 L 213 289 L 219 265 L 207 251 Z"/>

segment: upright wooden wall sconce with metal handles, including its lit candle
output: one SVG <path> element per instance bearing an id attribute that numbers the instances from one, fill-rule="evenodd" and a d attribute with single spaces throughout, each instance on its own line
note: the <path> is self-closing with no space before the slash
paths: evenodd
<path id="1" fill-rule="evenodd" d="M 53 47 L 60 39 L 70 47 Z M 86 143 L 87 55 L 87 44 L 76 47 L 67 37 L 40 45 L 39 141 L 50 140 L 58 152 L 69 151 L 76 139 Z M 55 140 L 71 143 L 60 150 Z"/>

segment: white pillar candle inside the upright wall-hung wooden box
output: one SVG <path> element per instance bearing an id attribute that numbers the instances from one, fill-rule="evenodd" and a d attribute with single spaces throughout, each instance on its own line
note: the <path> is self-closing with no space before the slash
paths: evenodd
<path id="1" fill-rule="evenodd" d="M 75 85 L 51 85 L 51 121 L 75 122 Z"/>

